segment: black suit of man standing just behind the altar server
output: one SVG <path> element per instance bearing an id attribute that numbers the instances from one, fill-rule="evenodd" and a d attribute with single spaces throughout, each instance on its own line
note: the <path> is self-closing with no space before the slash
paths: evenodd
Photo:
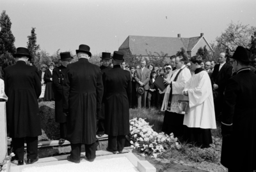
<path id="1" fill-rule="evenodd" d="M 227 80 L 232 76 L 232 66 L 225 63 L 220 69 L 220 64 L 214 66 L 214 70 L 211 75 L 212 88 L 214 84 L 218 85 L 218 99 L 214 99 L 214 110 L 216 119 L 220 120 L 220 113 L 223 107 L 224 90 L 227 85 Z"/>

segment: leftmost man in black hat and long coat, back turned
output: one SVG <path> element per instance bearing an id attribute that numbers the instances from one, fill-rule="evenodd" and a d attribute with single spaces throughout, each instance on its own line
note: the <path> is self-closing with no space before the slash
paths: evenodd
<path id="1" fill-rule="evenodd" d="M 38 161 L 38 136 L 42 134 L 38 115 L 38 97 L 41 94 L 41 80 L 34 66 L 26 65 L 31 56 L 27 48 L 17 48 L 13 55 L 17 63 L 4 69 L 4 92 L 6 102 L 7 128 L 13 143 L 15 161 L 24 164 L 24 140 L 27 143 L 27 164 Z"/>

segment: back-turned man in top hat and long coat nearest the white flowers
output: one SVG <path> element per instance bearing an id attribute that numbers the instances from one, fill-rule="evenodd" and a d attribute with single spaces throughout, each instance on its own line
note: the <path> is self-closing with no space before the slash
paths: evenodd
<path id="1" fill-rule="evenodd" d="M 129 101 L 131 101 L 131 74 L 121 68 L 124 54 L 115 51 L 113 69 L 103 73 L 105 103 L 105 133 L 109 152 L 122 153 L 125 135 L 130 133 Z"/>

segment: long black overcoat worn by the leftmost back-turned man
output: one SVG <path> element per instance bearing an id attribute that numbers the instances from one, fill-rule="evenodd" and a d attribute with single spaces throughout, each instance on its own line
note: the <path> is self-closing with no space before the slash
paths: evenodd
<path id="1" fill-rule="evenodd" d="M 41 80 L 37 69 L 24 61 L 5 68 L 4 92 L 8 96 L 6 117 L 10 137 L 40 136 L 37 99 L 41 94 Z"/>

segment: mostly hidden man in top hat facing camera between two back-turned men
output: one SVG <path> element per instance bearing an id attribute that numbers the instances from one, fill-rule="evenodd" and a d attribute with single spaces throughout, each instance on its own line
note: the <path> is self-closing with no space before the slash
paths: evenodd
<path id="1" fill-rule="evenodd" d="M 111 61 L 111 53 L 109 52 L 102 52 L 102 57 L 101 61 L 102 61 L 102 66 L 100 66 L 100 71 L 103 74 L 104 71 L 108 71 L 110 68 L 109 63 Z M 97 135 L 99 137 L 102 137 L 105 133 L 105 129 L 104 129 L 104 102 L 102 101 L 101 103 L 101 109 L 100 112 L 97 113 L 97 120 L 98 121 L 98 130 L 97 130 Z"/>

